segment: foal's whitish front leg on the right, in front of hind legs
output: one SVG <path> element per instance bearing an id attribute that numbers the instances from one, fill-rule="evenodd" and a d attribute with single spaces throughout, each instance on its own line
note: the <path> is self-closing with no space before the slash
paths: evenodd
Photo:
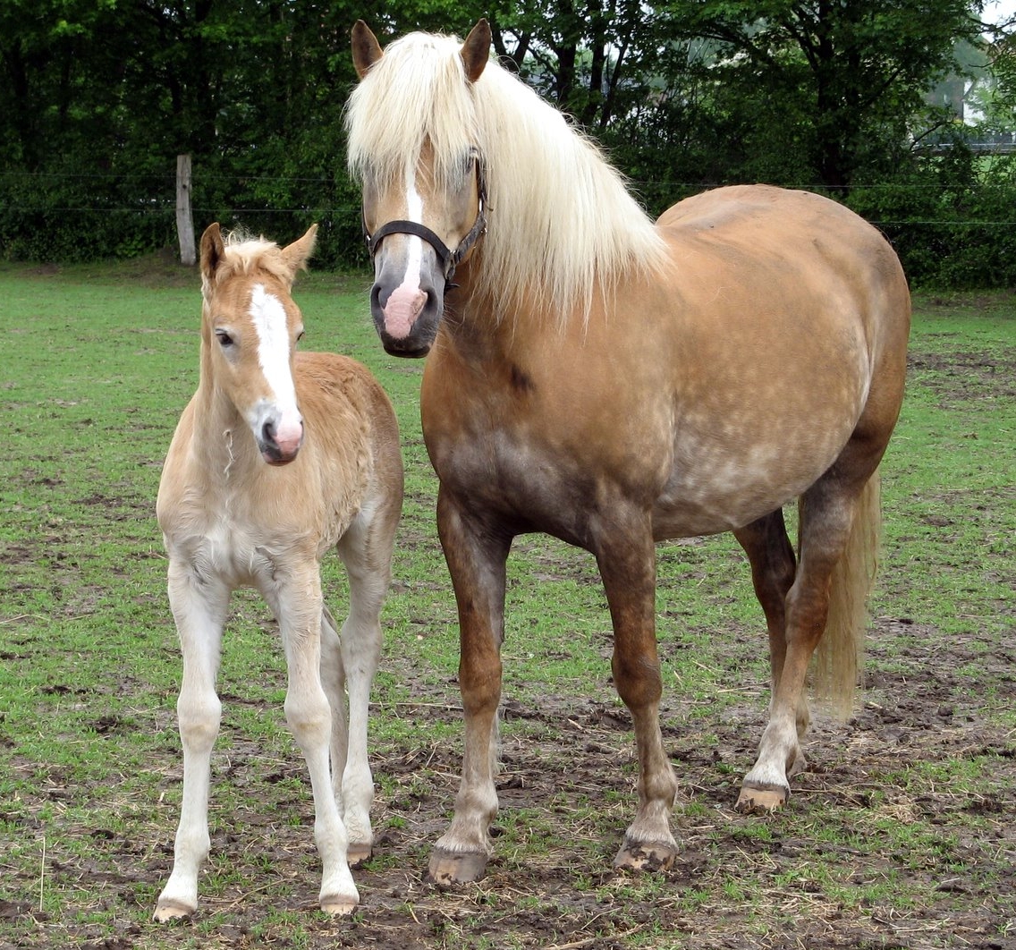
<path id="1" fill-rule="evenodd" d="M 332 711 L 321 685 L 323 607 L 317 562 L 309 562 L 280 580 L 276 589 L 263 592 L 278 618 L 285 646 L 285 719 L 307 761 L 314 794 L 314 839 L 323 866 L 321 909 L 350 913 L 360 902 L 360 893 L 350 873 L 345 828 L 332 790 Z"/>

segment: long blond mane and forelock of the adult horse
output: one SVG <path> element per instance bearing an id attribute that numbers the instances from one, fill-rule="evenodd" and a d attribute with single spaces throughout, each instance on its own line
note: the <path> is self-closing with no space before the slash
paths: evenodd
<path id="1" fill-rule="evenodd" d="M 438 181 L 453 181 L 478 148 L 488 188 L 478 290 L 499 318 L 535 295 L 562 322 L 585 319 L 597 289 L 662 266 L 662 240 L 591 140 L 496 61 L 470 84 L 460 49 L 431 34 L 386 47 L 350 100 L 350 169 L 400 181 L 429 140 Z"/>

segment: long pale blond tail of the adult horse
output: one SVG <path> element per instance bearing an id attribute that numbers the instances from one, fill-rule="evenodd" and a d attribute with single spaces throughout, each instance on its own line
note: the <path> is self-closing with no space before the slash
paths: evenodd
<path id="1" fill-rule="evenodd" d="M 882 535 L 880 488 L 876 469 L 861 491 L 846 547 L 833 569 L 829 616 L 815 651 L 814 695 L 840 719 L 853 711 L 864 660 L 867 601 L 878 571 Z"/>

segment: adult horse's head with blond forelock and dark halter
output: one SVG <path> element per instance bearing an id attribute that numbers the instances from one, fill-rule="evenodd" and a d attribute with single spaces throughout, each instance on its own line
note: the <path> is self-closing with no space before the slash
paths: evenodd
<path id="1" fill-rule="evenodd" d="M 374 258 L 371 313 L 394 356 L 426 356 L 446 287 L 484 232 L 469 87 L 490 50 L 487 20 L 461 45 L 416 34 L 386 53 L 363 20 L 353 28 L 354 64 L 364 81 L 350 103 L 350 166 L 363 181 Z"/>

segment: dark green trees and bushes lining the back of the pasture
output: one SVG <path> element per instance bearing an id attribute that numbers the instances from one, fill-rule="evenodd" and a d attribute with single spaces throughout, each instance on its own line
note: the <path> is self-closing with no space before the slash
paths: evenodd
<path id="1" fill-rule="evenodd" d="M 932 133 L 962 138 L 925 93 L 957 68 L 958 41 L 985 49 L 979 11 L 979 0 L 6 0 L 0 256 L 173 244 L 176 156 L 189 152 L 197 227 L 287 239 L 317 219 L 320 259 L 362 262 L 341 122 L 360 17 L 384 43 L 464 35 L 488 16 L 502 62 L 597 136 L 651 210 L 767 181 L 836 194 L 888 232 L 951 220 L 977 205 L 985 177 L 922 150 Z M 1011 30 L 991 40 L 999 124 L 1016 68 Z M 1007 168 L 994 167 L 996 189 Z M 944 178 L 962 181 L 963 200 L 949 204 Z M 875 184 L 893 197 L 876 200 Z M 912 228 L 894 237 L 911 239 Z"/>

